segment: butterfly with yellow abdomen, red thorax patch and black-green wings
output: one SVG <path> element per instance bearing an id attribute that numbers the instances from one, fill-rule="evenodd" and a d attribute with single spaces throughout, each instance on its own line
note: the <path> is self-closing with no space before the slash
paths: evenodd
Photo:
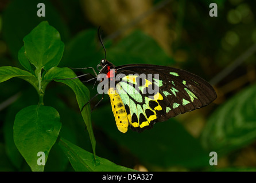
<path id="1" fill-rule="evenodd" d="M 110 97 L 120 132 L 126 133 L 128 128 L 137 132 L 151 129 L 156 122 L 202 108 L 216 99 L 215 90 L 210 83 L 186 70 L 148 64 L 115 66 L 106 59 L 106 49 L 99 29 L 98 36 L 105 58 L 97 66 L 98 74 L 93 67 L 83 69 L 90 68 L 94 71 L 96 77 L 92 79 L 99 81 L 98 94 L 102 90 L 103 95 L 107 93 Z"/>

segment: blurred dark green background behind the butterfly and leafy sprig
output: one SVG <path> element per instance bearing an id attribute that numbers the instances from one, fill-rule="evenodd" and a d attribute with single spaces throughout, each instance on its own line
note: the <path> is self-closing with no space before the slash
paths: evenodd
<path id="1" fill-rule="evenodd" d="M 45 4 L 45 17 L 37 17 L 40 2 Z M 218 17 L 209 15 L 212 2 L 218 5 Z M 59 67 L 96 69 L 104 58 L 96 34 L 102 26 L 107 59 L 114 65 L 185 69 L 210 82 L 218 98 L 143 133 L 122 134 L 105 96 L 91 114 L 97 156 L 142 171 L 256 170 L 255 12 L 256 2 L 243 0 L 1 0 L 0 66 L 24 69 L 18 62 L 22 39 L 46 20 L 65 43 Z M 96 94 L 93 84 L 85 84 L 91 97 Z M 51 82 L 44 100 L 60 113 L 60 136 L 92 152 L 72 90 Z M 19 110 L 37 102 L 29 83 L 18 78 L 0 83 L 0 170 L 29 170 L 14 145 L 13 122 Z M 218 153 L 217 166 L 209 164 L 212 151 Z M 54 145 L 45 170 L 73 169 Z"/>

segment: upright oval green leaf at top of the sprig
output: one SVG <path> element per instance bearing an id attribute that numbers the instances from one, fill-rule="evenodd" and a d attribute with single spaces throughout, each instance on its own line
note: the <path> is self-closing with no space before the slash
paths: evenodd
<path id="1" fill-rule="evenodd" d="M 38 70 L 48 70 L 59 64 L 64 43 L 59 32 L 48 22 L 41 22 L 23 41 L 27 58 Z"/>

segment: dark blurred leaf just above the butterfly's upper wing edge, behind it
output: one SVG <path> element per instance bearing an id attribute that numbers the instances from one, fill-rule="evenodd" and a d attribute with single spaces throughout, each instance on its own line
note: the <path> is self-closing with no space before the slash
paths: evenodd
<path id="1" fill-rule="evenodd" d="M 148 63 L 166 66 L 174 63 L 152 37 L 138 30 L 107 49 L 107 59 L 115 65 Z"/>

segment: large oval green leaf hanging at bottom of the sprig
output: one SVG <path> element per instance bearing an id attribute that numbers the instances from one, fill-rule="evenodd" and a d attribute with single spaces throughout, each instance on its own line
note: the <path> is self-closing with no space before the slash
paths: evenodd
<path id="1" fill-rule="evenodd" d="M 59 113 L 52 107 L 32 105 L 17 113 L 13 126 L 14 143 L 32 171 L 44 171 L 44 165 L 37 164 L 37 153 L 44 152 L 46 162 L 60 128 Z"/>

